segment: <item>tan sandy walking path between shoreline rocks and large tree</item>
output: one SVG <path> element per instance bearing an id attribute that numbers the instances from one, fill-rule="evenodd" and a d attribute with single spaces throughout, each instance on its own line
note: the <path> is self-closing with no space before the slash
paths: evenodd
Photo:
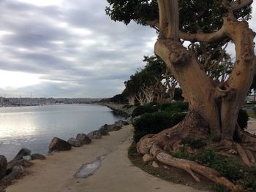
<path id="1" fill-rule="evenodd" d="M 29 168 L 31 174 L 7 188 L 7 192 L 144 192 L 197 190 L 160 180 L 138 167 L 127 158 L 127 149 L 132 142 L 132 126 L 110 133 L 110 136 L 94 140 L 92 145 L 72 149 L 69 152 L 50 155 L 45 161 L 34 161 Z M 82 164 L 107 155 L 102 166 L 86 179 L 75 179 L 73 175 Z"/>

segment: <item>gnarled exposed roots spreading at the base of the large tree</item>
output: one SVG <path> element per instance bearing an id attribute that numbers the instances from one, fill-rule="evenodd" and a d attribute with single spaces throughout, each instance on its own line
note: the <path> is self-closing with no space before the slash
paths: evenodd
<path id="1" fill-rule="evenodd" d="M 241 162 L 244 162 L 246 166 L 254 166 L 256 163 L 256 137 L 245 131 L 239 131 L 241 142 L 230 140 L 221 140 L 208 144 L 208 147 L 217 150 L 220 155 L 223 156 L 236 156 L 241 157 Z M 187 117 L 178 125 L 173 128 L 168 128 L 159 134 L 146 135 L 137 144 L 137 150 L 139 153 L 153 156 L 154 160 L 167 164 L 178 169 L 182 169 L 190 174 L 195 181 L 200 182 L 200 174 L 206 177 L 208 180 L 214 183 L 225 185 L 232 191 L 235 191 L 240 186 L 234 185 L 227 178 L 223 177 L 219 172 L 214 169 L 198 164 L 195 161 L 188 161 L 181 158 L 173 158 L 167 152 L 181 150 L 181 141 L 185 138 L 201 139 L 204 142 L 208 141 L 209 131 L 206 122 L 197 112 L 189 112 Z M 187 153 L 195 154 L 197 150 L 189 148 Z"/>

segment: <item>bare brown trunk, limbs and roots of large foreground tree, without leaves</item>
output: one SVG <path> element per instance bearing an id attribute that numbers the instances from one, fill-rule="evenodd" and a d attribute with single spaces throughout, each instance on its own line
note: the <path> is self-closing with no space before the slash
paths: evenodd
<path id="1" fill-rule="evenodd" d="M 241 0 L 243 5 L 250 3 L 252 1 Z M 176 77 L 184 99 L 189 102 L 189 113 L 177 126 L 140 139 L 138 151 L 142 154 L 151 153 L 154 159 L 162 163 L 184 169 L 197 181 L 198 177 L 194 172 L 235 190 L 237 186 L 220 177 L 219 173 L 190 161 L 177 160 L 165 153 L 165 150 L 178 150 L 181 147 L 181 139 L 190 137 L 207 140 L 211 134 L 215 141 L 211 147 L 224 152 L 236 150 L 244 164 L 255 164 L 256 137 L 241 131 L 236 123 L 238 111 L 244 104 L 246 93 L 255 76 L 255 33 L 249 29 L 248 23 L 238 21 L 233 16 L 233 10 L 241 7 L 241 4 L 237 4 L 237 1 L 230 4 L 223 4 L 228 11 L 219 31 L 212 34 L 185 34 L 178 33 L 178 0 L 158 0 L 159 37 L 155 44 L 155 53 L 165 61 Z M 206 72 L 200 69 L 195 54 L 183 47 L 178 37 L 208 43 L 224 38 L 232 39 L 236 46 L 236 63 L 227 81 L 216 85 Z M 233 141 L 235 136 L 240 140 L 240 144 Z"/>

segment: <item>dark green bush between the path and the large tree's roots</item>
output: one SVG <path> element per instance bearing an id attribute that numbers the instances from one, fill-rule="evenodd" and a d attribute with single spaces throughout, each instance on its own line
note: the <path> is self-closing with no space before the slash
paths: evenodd
<path id="1" fill-rule="evenodd" d="M 138 120 L 135 120 L 133 126 L 135 128 L 135 142 L 138 142 L 141 137 L 146 134 L 158 134 L 160 131 L 175 126 L 181 122 L 186 116 L 185 113 L 176 112 L 153 112 L 142 115 Z"/>

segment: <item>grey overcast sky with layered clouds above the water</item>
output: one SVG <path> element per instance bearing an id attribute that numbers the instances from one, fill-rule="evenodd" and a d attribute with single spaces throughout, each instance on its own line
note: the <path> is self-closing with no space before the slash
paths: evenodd
<path id="1" fill-rule="evenodd" d="M 0 0 L 0 96 L 110 97 L 154 53 L 153 29 L 105 0 Z M 255 7 L 255 2 L 253 4 Z M 256 10 L 250 22 L 256 31 Z"/>

